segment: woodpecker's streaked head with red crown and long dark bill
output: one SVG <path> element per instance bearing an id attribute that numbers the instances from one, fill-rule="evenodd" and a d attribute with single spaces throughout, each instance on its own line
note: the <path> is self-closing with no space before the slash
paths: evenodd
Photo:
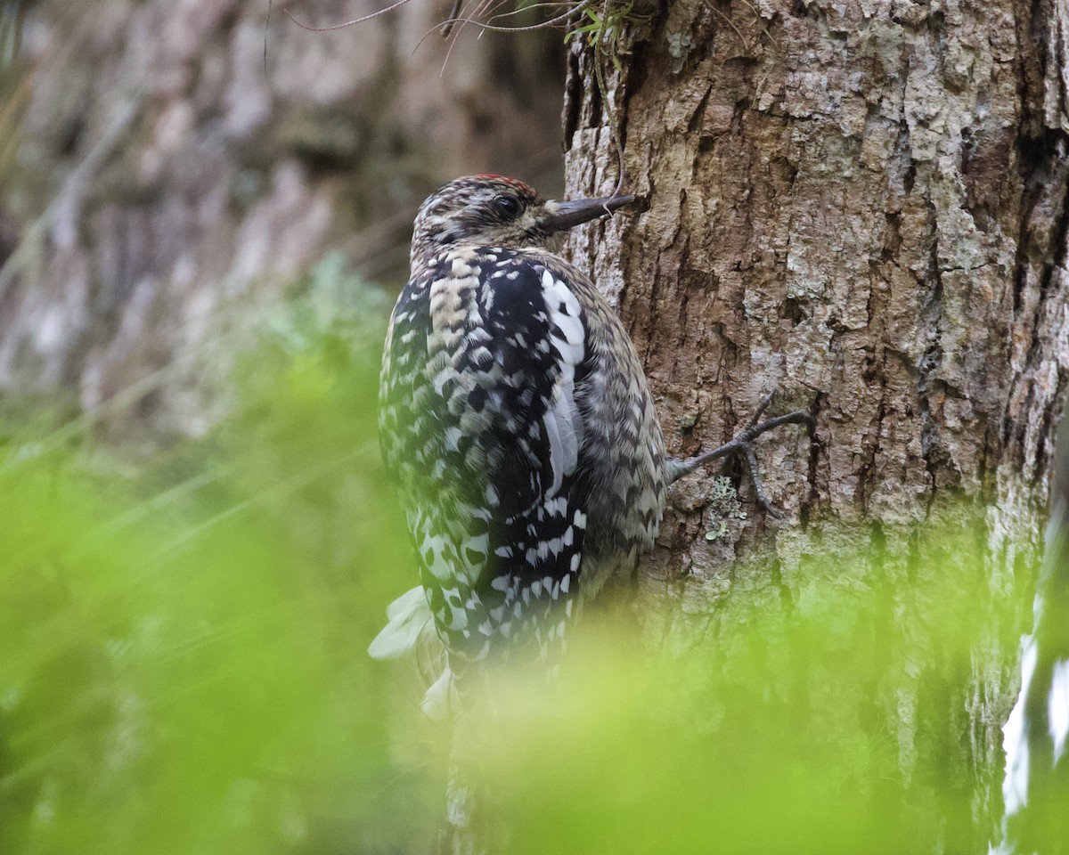
<path id="1" fill-rule="evenodd" d="M 544 246 L 549 235 L 611 214 L 633 196 L 546 200 L 515 178 L 472 175 L 456 178 L 428 197 L 416 216 L 415 262 L 429 252 L 461 245 L 512 249 Z"/>

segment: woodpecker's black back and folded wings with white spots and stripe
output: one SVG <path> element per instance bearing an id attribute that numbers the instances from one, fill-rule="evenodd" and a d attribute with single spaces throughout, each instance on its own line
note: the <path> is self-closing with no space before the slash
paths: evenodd
<path id="1" fill-rule="evenodd" d="M 569 269 L 544 255 L 454 250 L 437 267 L 425 323 L 402 329 L 394 313 L 384 389 L 390 366 L 408 364 L 399 348 L 423 335 L 425 361 L 410 386 L 393 384 L 389 397 L 407 386 L 410 400 L 384 430 L 405 438 L 384 445 L 407 484 L 422 581 L 447 646 L 479 658 L 513 647 L 495 640 L 505 636 L 544 652 L 571 615 L 586 529 L 582 308 Z"/>

